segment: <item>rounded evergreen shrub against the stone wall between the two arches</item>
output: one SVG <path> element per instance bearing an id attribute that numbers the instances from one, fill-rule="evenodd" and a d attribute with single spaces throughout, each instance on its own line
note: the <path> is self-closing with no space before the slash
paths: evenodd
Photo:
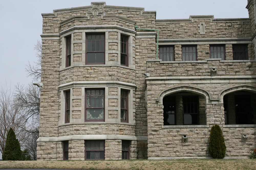
<path id="1" fill-rule="evenodd" d="M 226 154 L 226 145 L 219 125 L 211 127 L 209 152 L 214 159 L 223 159 Z"/>

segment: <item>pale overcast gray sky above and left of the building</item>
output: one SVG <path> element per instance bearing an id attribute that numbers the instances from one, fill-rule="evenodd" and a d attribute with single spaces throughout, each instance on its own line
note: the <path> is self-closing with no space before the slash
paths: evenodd
<path id="1" fill-rule="evenodd" d="M 106 5 L 142 7 L 156 11 L 156 19 L 188 19 L 190 15 L 214 18 L 248 18 L 247 0 L 106 0 Z M 36 61 L 34 45 L 41 40 L 41 13 L 54 9 L 90 6 L 88 0 L 2 0 L 0 2 L 0 86 L 28 84 L 25 67 Z"/>

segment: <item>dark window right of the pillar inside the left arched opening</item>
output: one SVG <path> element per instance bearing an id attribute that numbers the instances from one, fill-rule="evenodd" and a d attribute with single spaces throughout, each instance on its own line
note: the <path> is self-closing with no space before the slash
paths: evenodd
<path id="1" fill-rule="evenodd" d="M 198 125 L 198 96 L 183 96 L 184 125 Z"/>

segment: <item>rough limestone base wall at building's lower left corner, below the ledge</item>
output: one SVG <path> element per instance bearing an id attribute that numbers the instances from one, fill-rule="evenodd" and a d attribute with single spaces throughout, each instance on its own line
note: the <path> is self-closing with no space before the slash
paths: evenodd
<path id="1" fill-rule="evenodd" d="M 57 159 L 57 142 L 37 142 L 37 160 L 55 161 Z"/>

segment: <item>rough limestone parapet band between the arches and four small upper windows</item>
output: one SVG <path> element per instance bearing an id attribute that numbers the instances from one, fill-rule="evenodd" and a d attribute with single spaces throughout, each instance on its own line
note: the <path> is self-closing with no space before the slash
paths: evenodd
<path id="1" fill-rule="evenodd" d="M 208 60 L 202 63 L 160 63 L 148 61 L 147 72 L 151 77 L 159 76 L 210 76 L 211 68 L 217 75 L 255 75 L 256 62 L 220 62 Z"/>

